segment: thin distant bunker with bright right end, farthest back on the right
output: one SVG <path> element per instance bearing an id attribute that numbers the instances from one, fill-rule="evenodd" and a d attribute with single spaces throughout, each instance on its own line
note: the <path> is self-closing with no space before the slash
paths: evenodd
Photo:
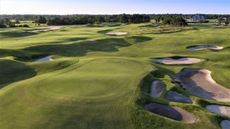
<path id="1" fill-rule="evenodd" d="M 218 50 L 224 49 L 224 47 L 215 46 L 215 45 L 195 45 L 195 46 L 189 46 L 187 47 L 187 49 L 190 51 L 199 51 L 199 50 L 204 50 L 204 49 L 218 51 Z"/>

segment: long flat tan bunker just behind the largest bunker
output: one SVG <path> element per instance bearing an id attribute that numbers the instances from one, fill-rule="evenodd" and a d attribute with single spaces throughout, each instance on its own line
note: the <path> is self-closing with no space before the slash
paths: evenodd
<path id="1" fill-rule="evenodd" d="M 155 58 L 153 59 L 154 62 L 165 64 L 165 65 L 189 65 L 189 64 L 196 64 L 201 62 L 200 59 L 197 58 Z"/>

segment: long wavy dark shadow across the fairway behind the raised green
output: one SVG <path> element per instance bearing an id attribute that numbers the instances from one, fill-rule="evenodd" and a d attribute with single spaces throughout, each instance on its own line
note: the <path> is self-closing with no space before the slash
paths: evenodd
<path id="1" fill-rule="evenodd" d="M 88 52 L 116 52 L 120 47 L 127 47 L 131 44 L 124 39 L 109 38 L 95 41 L 84 41 L 73 44 L 58 44 L 58 45 L 40 45 L 23 49 L 27 52 L 43 53 L 48 55 L 61 56 L 84 56 Z"/>

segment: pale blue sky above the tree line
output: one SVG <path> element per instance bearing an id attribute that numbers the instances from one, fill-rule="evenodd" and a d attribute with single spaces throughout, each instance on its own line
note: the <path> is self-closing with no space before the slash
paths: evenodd
<path id="1" fill-rule="evenodd" d="M 0 14 L 230 14 L 230 0 L 0 0 Z"/>

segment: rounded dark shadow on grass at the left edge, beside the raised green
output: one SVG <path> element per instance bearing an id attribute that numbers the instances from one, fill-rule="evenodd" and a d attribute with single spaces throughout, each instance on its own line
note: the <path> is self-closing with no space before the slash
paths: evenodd
<path id="1" fill-rule="evenodd" d="M 29 66 L 11 60 L 0 60 L 0 89 L 20 80 L 25 80 L 36 75 L 36 71 Z"/>

